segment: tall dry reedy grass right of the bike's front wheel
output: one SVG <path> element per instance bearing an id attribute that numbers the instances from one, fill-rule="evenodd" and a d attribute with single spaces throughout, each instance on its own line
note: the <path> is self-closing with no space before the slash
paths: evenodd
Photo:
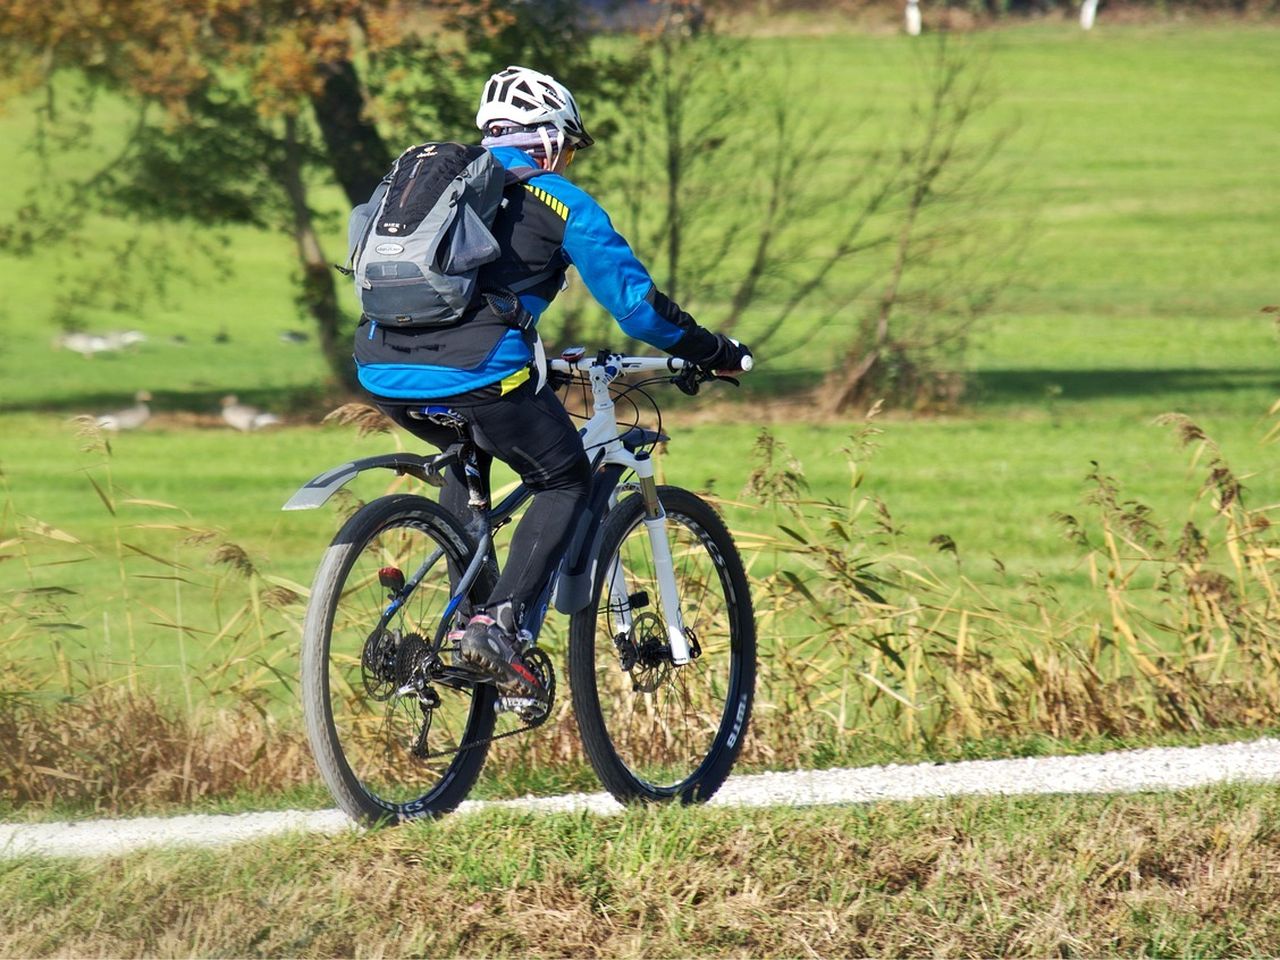
<path id="1" fill-rule="evenodd" d="M 1096 466 L 1083 509 L 1056 516 L 1088 571 L 1071 603 L 1038 576 L 1015 589 L 977 582 L 945 536 L 932 558 L 897 552 L 888 508 L 860 493 L 873 419 L 844 449 L 845 500 L 808 495 L 803 465 L 762 434 L 746 494 L 773 511 L 776 531 L 739 535 L 763 571 L 769 650 L 751 753 L 795 762 L 840 755 L 858 737 L 920 749 L 1271 722 L 1276 507 L 1247 504 L 1239 475 L 1189 419 L 1161 422 L 1202 476 L 1193 518 L 1158 517 Z"/>

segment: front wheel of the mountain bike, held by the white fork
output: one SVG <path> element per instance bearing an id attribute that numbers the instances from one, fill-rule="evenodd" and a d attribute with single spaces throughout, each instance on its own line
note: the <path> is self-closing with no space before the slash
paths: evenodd
<path id="1" fill-rule="evenodd" d="M 570 625 L 573 712 L 618 800 L 701 803 L 742 748 L 755 621 L 742 561 L 712 506 L 675 486 L 658 497 L 692 658 L 672 662 L 644 503 L 628 497 L 605 517 L 593 603 Z"/>

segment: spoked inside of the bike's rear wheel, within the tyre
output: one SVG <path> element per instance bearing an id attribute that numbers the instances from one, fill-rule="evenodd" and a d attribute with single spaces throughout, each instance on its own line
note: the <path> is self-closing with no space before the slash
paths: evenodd
<path id="1" fill-rule="evenodd" d="M 467 742 L 481 709 L 470 686 L 440 680 L 422 684 L 424 675 L 415 672 L 449 602 L 443 556 L 387 630 L 376 632 L 392 594 L 379 572 L 393 568 L 412 577 L 440 547 L 420 521 L 398 518 L 384 525 L 347 571 L 329 637 L 329 703 L 343 758 L 375 803 L 402 814 L 448 781 L 456 751 Z M 448 653 L 444 658 L 448 663 Z M 415 690 L 399 692 L 406 685 Z M 424 710 L 424 700 L 435 705 Z"/>

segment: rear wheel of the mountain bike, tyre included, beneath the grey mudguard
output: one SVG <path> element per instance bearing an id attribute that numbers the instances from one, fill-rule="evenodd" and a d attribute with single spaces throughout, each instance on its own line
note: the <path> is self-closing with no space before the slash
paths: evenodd
<path id="1" fill-rule="evenodd" d="M 362 823 L 452 810 L 480 776 L 494 689 L 471 684 L 447 653 L 430 655 L 448 570 L 463 568 L 471 552 L 435 503 L 383 497 L 343 525 L 316 571 L 302 637 L 303 716 L 325 783 Z M 420 572 L 388 617 L 397 581 Z M 472 598 L 490 586 L 481 575 Z"/>

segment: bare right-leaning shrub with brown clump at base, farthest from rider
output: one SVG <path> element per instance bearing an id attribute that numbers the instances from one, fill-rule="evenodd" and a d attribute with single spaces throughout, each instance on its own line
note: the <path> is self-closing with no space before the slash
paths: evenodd
<path id="1" fill-rule="evenodd" d="M 827 412 L 884 396 L 954 402 L 968 339 L 1010 282 L 1025 238 L 1025 223 L 991 216 L 1010 183 L 998 160 L 1012 129 L 975 131 L 991 102 L 982 70 L 943 37 L 924 81 L 886 209 L 891 260 L 852 312 L 840 362 L 815 397 Z"/>

